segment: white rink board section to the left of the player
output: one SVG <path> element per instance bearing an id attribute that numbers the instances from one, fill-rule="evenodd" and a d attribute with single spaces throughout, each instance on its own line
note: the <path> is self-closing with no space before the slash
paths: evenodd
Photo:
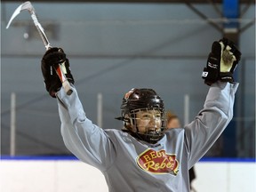
<path id="1" fill-rule="evenodd" d="M 1 192 L 108 191 L 99 170 L 76 160 L 4 160 L 0 174 Z"/>

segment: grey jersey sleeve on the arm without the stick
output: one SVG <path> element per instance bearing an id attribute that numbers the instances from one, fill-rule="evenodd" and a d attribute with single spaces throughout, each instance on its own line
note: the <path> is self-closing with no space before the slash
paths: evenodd
<path id="1" fill-rule="evenodd" d="M 188 166 L 192 167 L 212 147 L 233 117 L 237 83 L 212 84 L 204 108 L 185 126 Z"/>

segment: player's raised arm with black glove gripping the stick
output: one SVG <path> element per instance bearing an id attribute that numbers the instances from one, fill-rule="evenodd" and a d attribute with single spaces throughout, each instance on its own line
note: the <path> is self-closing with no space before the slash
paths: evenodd
<path id="1" fill-rule="evenodd" d="M 54 65 L 59 64 L 71 84 L 73 91 L 71 95 L 64 91 L 60 78 L 52 70 Z M 52 98 L 58 100 L 61 135 L 66 147 L 80 160 L 105 171 L 116 157 L 116 148 L 113 144 L 115 137 L 110 140 L 103 129 L 92 124 L 92 121 L 85 116 L 66 54 L 60 48 L 52 48 L 45 52 L 41 68 L 46 91 Z M 107 156 L 108 158 L 106 158 Z"/>

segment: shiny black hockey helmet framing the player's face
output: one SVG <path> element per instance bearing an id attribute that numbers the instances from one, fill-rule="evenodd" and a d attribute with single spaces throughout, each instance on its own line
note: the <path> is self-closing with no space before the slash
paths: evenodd
<path id="1" fill-rule="evenodd" d="M 135 112 L 149 109 L 156 109 L 161 113 L 162 124 L 160 132 L 140 133 L 135 123 Z M 122 120 L 124 122 L 124 127 L 132 133 L 132 136 L 140 140 L 145 140 L 149 143 L 156 143 L 158 140 L 161 140 L 164 137 L 164 101 L 153 89 L 133 88 L 131 91 L 127 92 L 124 95 L 121 105 L 121 117 L 117 119 Z"/>

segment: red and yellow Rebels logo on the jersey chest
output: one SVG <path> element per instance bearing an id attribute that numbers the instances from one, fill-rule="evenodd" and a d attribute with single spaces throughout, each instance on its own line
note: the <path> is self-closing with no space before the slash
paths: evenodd
<path id="1" fill-rule="evenodd" d="M 166 154 L 165 150 L 148 149 L 137 157 L 137 164 L 146 172 L 155 174 L 177 175 L 179 162 L 175 155 Z"/>

